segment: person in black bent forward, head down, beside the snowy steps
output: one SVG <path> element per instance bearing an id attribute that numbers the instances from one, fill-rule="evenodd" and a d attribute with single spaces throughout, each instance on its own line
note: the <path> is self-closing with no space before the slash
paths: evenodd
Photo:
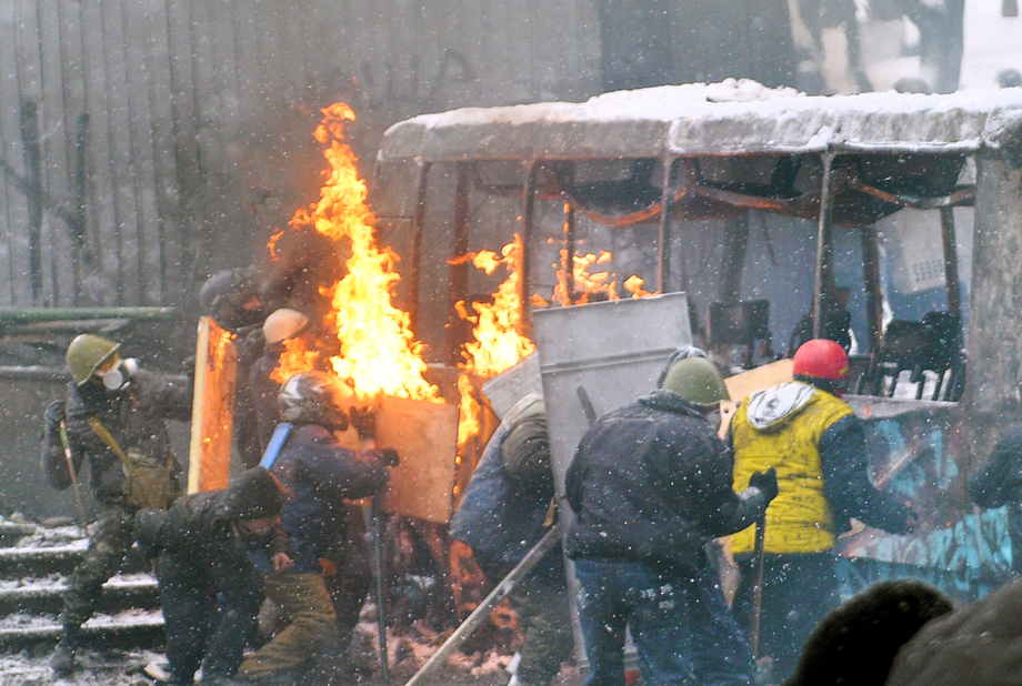
<path id="1" fill-rule="evenodd" d="M 232 682 L 262 603 L 249 554 L 265 551 L 280 572 L 291 564 L 280 527 L 285 497 L 277 477 L 253 467 L 227 488 L 136 515 L 139 542 L 159 557 L 172 686 L 191 686 L 200 665 L 203 686 Z"/>

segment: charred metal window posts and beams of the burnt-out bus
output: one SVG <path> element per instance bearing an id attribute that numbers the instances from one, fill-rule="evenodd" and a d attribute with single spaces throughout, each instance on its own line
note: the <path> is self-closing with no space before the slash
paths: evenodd
<path id="1" fill-rule="evenodd" d="M 834 203 L 834 183 L 836 175 L 843 173 L 834 165 L 834 160 L 839 154 L 855 154 L 862 151 L 835 151 L 830 150 L 820 154 L 823 167 L 823 174 L 820 185 L 820 201 L 816 230 L 816 258 L 813 283 L 813 335 L 820 335 L 821 306 L 823 294 L 828 287 L 833 285 L 833 253 L 832 253 L 832 232 L 833 232 L 833 203 Z M 522 182 L 521 184 L 500 185 L 490 188 L 482 183 L 479 178 L 479 170 L 473 161 L 458 161 L 454 163 L 455 169 L 455 198 L 453 205 L 453 233 L 450 246 L 450 281 L 448 284 L 450 310 L 448 315 L 448 330 L 457 331 L 460 322 L 454 303 L 465 301 L 468 293 L 468 264 L 464 255 L 469 250 L 469 194 L 471 188 L 487 192 L 495 192 L 500 195 L 509 196 L 518 194 L 521 203 L 520 232 L 522 239 L 522 254 L 520 255 L 520 303 L 521 303 L 521 322 L 525 335 L 531 333 L 531 309 L 529 303 L 529 283 L 531 273 L 531 256 L 529 246 L 532 241 L 535 221 L 535 199 L 538 189 L 538 174 L 544 173 L 544 195 L 547 196 L 552 182 L 557 188 L 554 195 L 564 198 L 567 205 L 565 223 L 563 232 L 563 244 L 565 250 L 567 266 L 570 270 L 575 253 L 575 203 L 572 198 L 564 191 L 570 188 L 573 180 L 572 161 L 557 162 L 557 168 L 549 168 L 539 160 L 522 161 Z M 662 193 L 660 206 L 653 206 L 645 212 L 635 213 L 635 216 L 642 216 L 647 221 L 657 216 L 658 221 L 658 244 L 657 244 L 657 291 L 667 292 L 671 287 L 671 280 L 674 269 L 679 271 L 680 283 L 679 290 L 685 290 L 687 274 L 684 270 L 684 260 L 675 266 L 671 263 L 671 239 L 672 239 L 672 216 L 674 206 L 678 202 L 688 195 L 695 195 L 709 200 L 727 203 L 734 208 L 744 210 L 762 210 L 768 212 L 782 212 L 790 210 L 791 202 L 796 199 L 775 199 L 762 195 L 737 192 L 721 189 L 705 183 L 700 176 L 699 159 L 692 157 L 682 157 L 664 154 L 661 159 L 662 168 Z M 415 214 L 412 225 L 411 256 L 410 256 L 410 300 L 409 313 L 412 327 L 419 321 L 419 294 L 420 280 L 422 274 L 422 242 L 427 218 L 427 191 L 429 174 L 432 169 L 431 162 L 423 162 L 419 169 L 419 181 L 417 188 Z M 474 178 L 473 178 L 474 174 Z M 898 194 L 878 189 L 863 182 L 854 174 L 845 175 L 843 179 L 845 188 L 861 192 L 863 194 L 876 198 L 883 202 L 902 208 L 913 208 L 921 210 L 940 210 L 941 230 L 945 268 L 945 290 L 948 293 L 948 309 L 951 312 L 961 312 L 961 286 L 958 278 L 958 255 L 955 253 L 954 241 L 954 218 L 953 208 L 960 205 L 971 205 L 975 198 L 975 188 L 968 186 L 956 189 L 952 193 L 939 198 L 915 198 L 905 194 Z M 559 188 L 558 188 L 559 186 Z M 551 195 L 551 196 L 554 196 Z M 658 216 L 659 215 L 659 216 Z M 720 293 L 723 299 L 738 299 L 741 291 L 741 272 L 744 260 L 738 259 L 744 256 L 748 242 L 748 214 L 739 213 L 728 229 L 724 236 L 725 250 L 721 271 Z M 881 304 L 881 283 L 880 283 L 880 262 L 878 234 L 873 224 L 863 224 L 858 229 L 862 243 L 862 275 L 866 295 L 866 323 L 869 329 L 869 341 L 866 354 L 875 353 L 882 345 L 882 304 Z M 733 259 L 732 259 L 733 258 Z M 569 280 L 569 289 L 572 285 Z M 569 296 L 574 299 L 573 293 Z M 451 364 L 460 362 L 460 342 L 457 336 L 451 335 L 448 342 L 447 351 L 448 361 Z"/>

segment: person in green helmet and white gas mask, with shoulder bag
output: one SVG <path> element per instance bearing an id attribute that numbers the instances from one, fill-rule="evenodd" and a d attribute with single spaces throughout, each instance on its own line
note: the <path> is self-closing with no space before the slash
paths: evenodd
<path id="1" fill-rule="evenodd" d="M 180 494 L 181 467 L 164 420 L 190 420 L 192 400 L 188 377 L 156 374 L 140 369 L 137 360 L 121 360 L 120 345 L 101 336 L 77 336 L 67 361 L 72 381 L 66 399 L 47 408 L 42 468 L 53 487 L 64 490 L 88 462 L 100 512 L 64 593 L 62 634 L 51 657 L 59 675 L 74 670 L 81 626 L 131 547 L 134 513 L 167 507 Z"/>

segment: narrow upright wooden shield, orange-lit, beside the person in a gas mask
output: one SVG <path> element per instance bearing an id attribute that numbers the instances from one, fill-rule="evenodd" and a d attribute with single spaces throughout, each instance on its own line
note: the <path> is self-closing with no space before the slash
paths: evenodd
<path id="1" fill-rule="evenodd" d="M 230 332 L 208 316 L 200 317 L 188 453 L 188 493 L 227 487 L 237 365 L 238 354 Z"/>

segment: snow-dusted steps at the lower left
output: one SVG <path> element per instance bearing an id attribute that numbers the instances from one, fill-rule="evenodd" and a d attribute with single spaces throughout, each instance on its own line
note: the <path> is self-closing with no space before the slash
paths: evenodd
<path id="1" fill-rule="evenodd" d="M 48 649 L 60 638 L 62 595 L 87 539 L 47 539 L 42 527 L 14 532 L 0 523 L 0 655 Z M 4 528 L 10 535 L 4 535 Z M 34 535 L 33 535 L 34 534 Z M 129 555 L 124 571 L 103 585 L 100 612 L 83 627 L 88 646 L 151 648 L 163 642 L 163 616 L 156 579 L 141 554 Z"/>

